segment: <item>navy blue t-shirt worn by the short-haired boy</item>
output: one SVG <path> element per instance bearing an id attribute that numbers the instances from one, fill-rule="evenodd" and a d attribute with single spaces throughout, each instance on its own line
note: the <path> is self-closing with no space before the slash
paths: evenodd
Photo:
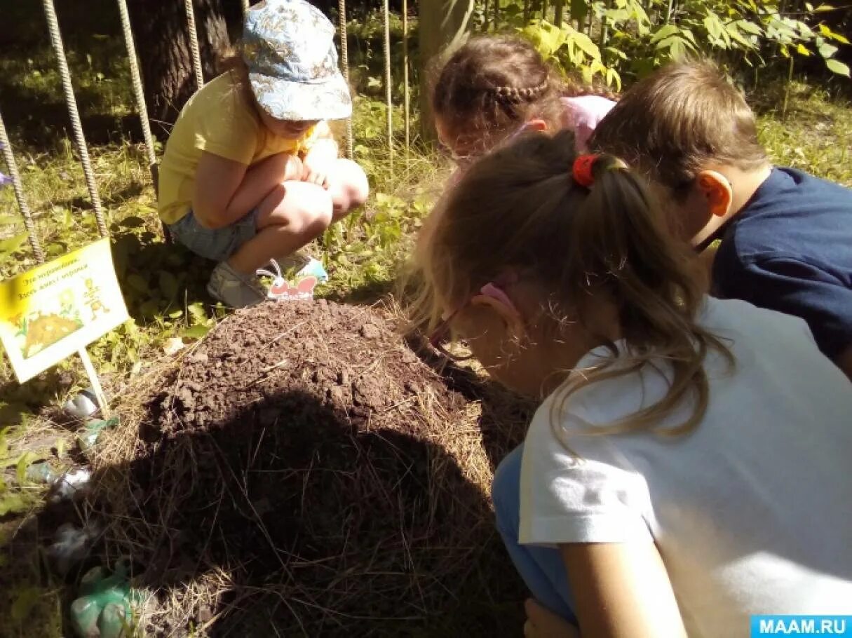
<path id="1" fill-rule="evenodd" d="M 724 230 L 713 294 L 801 317 L 835 359 L 852 345 L 852 190 L 773 169 Z"/>

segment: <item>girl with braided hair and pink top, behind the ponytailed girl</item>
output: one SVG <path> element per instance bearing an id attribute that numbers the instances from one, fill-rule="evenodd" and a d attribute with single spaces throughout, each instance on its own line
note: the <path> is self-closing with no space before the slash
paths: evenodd
<path id="1" fill-rule="evenodd" d="M 470 39 L 446 61 L 432 90 L 435 127 L 460 169 L 525 129 L 573 130 L 585 150 L 615 105 L 607 90 L 560 78 L 521 37 Z M 458 175 L 454 181 L 458 179 Z"/>

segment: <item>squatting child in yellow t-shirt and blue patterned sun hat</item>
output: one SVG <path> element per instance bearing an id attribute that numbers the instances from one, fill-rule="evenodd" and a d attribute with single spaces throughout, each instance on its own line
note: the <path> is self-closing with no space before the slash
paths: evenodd
<path id="1" fill-rule="evenodd" d="M 366 200 L 364 171 L 337 157 L 325 122 L 352 112 L 334 33 L 303 0 L 256 4 L 233 68 L 187 101 L 166 144 L 159 215 L 219 262 L 207 290 L 228 306 L 262 301 L 258 267 Z"/>

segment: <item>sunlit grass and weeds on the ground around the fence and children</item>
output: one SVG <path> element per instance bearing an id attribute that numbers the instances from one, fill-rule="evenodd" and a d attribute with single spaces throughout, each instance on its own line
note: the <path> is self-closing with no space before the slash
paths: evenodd
<path id="1" fill-rule="evenodd" d="M 14 10 L 23 11 L 20 5 L 24 4 L 18 3 Z M 401 146 L 399 108 L 394 110 L 391 172 L 385 107 L 377 100 L 381 45 L 377 45 L 376 22 L 367 24 L 361 31 L 354 29 L 352 49 L 354 80 L 362 95 L 355 104 L 355 158 L 371 177 L 373 196 L 365 210 L 332 227 L 311 249 L 323 256 L 331 274 L 330 284 L 320 294 L 349 302 L 372 302 L 389 290 L 446 175 L 446 167 L 434 154 L 419 145 L 413 150 Z M 89 36 L 70 38 L 66 45 L 72 51 L 69 64 L 92 142 L 90 153 L 112 234 L 116 270 L 132 316 L 89 347 L 108 385 L 118 390 L 164 356 L 168 339 L 198 338 L 226 311 L 204 291 L 210 262 L 163 243 L 134 120 L 124 49 L 120 39 L 99 37 L 99 28 L 93 26 Z M 394 23 L 394 29 L 398 28 Z M 76 152 L 63 129 L 68 119 L 55 60 L 32 25 L 22 37 L 24 52 L 0 60 L 0 107 L 35 217 L 37 239 L 52 258 L 96 239 L 97 229 Z M 394 59 L 399 60 L 399 55 L 394 47 Z M 783 120 L 783 85 L 770 84 L 751 95 L 771 158 L 852 186 L 852 108 L 805 84 L 794 83 L 790 89 Z M 400 103 L 398 85 L 394 95 Z M 26 242 L 10 250 L 9 242 L 23 232 L 12 189 L 4 189 L 0 191 L 0 277 L 35 264 Z M 66 450 L 72 448 L 72 434 L 49 428 L 35 415 L 85 385 L 88 382 L 76 358 L 22 387 L 14 381 L 7 360 L 0 359 L 0 428 L 8 427 L 0 429 L 0 505 L 14 504 L 13 512 L 20 514 L 39 503 L 42 489 L 16 476 L 25 451 L 49 458 L 57 466 L 69 462 Z M 0 515 L 0 546 L 19 524 L 20 519 Z M 16 555 L 14 566 L 5 566 L 3 560 L 8 557 L 0 553 L 0 571 L 10 583 L 0 586 L 6 597 L 0 597 L 0 626 L 9 628 L 11 635 L 59 635 L 60 589 L 43 587 L 37 552 L 16 548 Z M 3 618 L 5 609 L 11 610 L 10 618 Z M 43 621 L 35 626 L 32 618 Z"/>

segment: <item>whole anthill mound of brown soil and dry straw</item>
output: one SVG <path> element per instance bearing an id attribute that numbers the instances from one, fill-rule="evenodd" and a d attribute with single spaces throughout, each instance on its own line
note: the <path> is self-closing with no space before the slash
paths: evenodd
<path id="1" fill-rule="evenodd" d="M 484 418 L 476 383 L 448 388 L 368 308 L 223 321 L 96 481 L 107 553 L 159 592 L 148 635 L 514 635 L 483 443 L 508 451 L 527 414 Z"/>

